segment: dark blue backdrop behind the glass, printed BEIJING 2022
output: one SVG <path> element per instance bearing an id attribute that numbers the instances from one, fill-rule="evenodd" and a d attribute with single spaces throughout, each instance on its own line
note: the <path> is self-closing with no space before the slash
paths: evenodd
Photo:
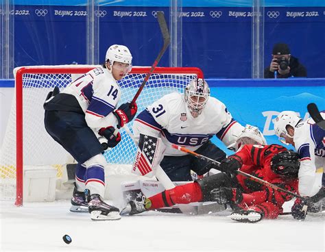
<path id="1" fill-rule="evenodd" d="M 49 1 L 34 1 L 40 2 Z M 87 13 L 82 6 L 85 1 L 73 2 L 79 5 L 64 5 L 64 1 L 57 1 L 60 5 L 15 5 L 12 11 L 15 66 L 86 63 Z M 168 22 L 169 8 L 163 5 L 167 2 L 162 1 L 163 7 L 106 6 L 107 1 L 103 2 L 96 12 L 100 21 L 101 62 L 107 47 L 119 43 L 130 48 L 134 65 L 151 65 L 162 45 L 155 14 L 163 10 Z M 130 2 L 123 2 L 126 3 Z M 202 5 L 204 3 L 208 4 L 203 1 Z M 206 77 L 249 78 L 251 8 L 230 4 L 230 7 L 219 7 L 216 3 L 211 1 L 209 7 L 183 8 L 180 14 L 183 18 L 182 65 L 200 67 Z M 238 3 L 234 1 L 234 5 Z M 247 5 L 247 1 L 243 3 Z M 322 2 L 311 3 L 321 5 Z M 274 43 L 287 42 L 291 54 L 306 66 L 308 77 L 325 77 L 324 1 L 322 6 L 265 8 L 265 66 L 269 65 Z M 160 66 L 168 66 L 168 62 L 167 51 Z"/>

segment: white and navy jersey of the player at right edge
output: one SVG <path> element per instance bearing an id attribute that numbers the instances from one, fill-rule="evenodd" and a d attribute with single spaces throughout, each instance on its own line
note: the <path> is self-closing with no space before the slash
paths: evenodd
<path id="1" fill-rule="evenodd" d="M 321 114 L 325 117 L 325 113 Z M 325 131 L 308 118 L 295 127 L 293 142 L 300 156 L 299 192 L 311 197 L 322 186 L 321 179 L 316 177 L 316 169 L 324 168 Z"/>

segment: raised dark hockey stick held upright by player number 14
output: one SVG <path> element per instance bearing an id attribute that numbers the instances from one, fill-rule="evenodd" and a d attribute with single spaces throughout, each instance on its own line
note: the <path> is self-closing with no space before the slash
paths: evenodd
<path id="1" fill-rule="evenodd" d="M 171 38 L 169 36 L 169 31 L 168 31 L 167 23 L 166 23 L 166 20 L 165 20 L 164 12 L 157 12 L 157 19 L 158 19 L 160 31 L 163 34 L 164 45 L 163 45 L 163 48 L 160 49 L 160 52 L 159 52 L 156 60 L 154 61 L 154 64 L 152 64 L 152 67 L 149 70 L 149 73 L 147 73 L 147 75 L 145 75 L 145 79 L 143 79 L 139 90 L 134 95 L 134 97 L 133 97 L 133 99 L 131 101 L 131 105 L 130 105 L 131 107 L 136 102 L 136 99 L 138 99 L 138 97 L 139 97 L 141 91 L 143 90 L 145 84 L 147 83 L 150 75 L 152 75 L 152 72 L 154 72 L 154 68 L 156 68 L 158 62 L 160 61 L 161 57 L 163 57 L 163 54 L 165 53 L 167 47 L 169 47 L 169 45 L 171 43 Z"/>

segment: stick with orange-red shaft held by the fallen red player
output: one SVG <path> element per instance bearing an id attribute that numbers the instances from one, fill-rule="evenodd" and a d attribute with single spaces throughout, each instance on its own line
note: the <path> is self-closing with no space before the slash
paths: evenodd
<path id="1" fill-rule="evenodd" d="M 190 154 L 190 155 L 193 155 L 194 157 L 200 158 L 200 159 L 202 159 L 202 160 L 209 161 L 209 162 L 215 164 L 216 166 L 219 166 L 219 164 L 220 164 L 220 162 L 217 162 L 216 160 L 213 160 L 213 159 L 210 158 L 210 157 L 206 157 L 206 156 L 204 156 L 204 155 L 201 155 L 201 154 L 195 153 L 194 151 L 190 151 L 189 149 L 186 149 L 185 147 L 180 147 L 180 146 L 178 146 L 178 145 L 176 145 L 176 144 L 172 144 L 172 147 L 173 147 L 174 149 L 178 149 L 179 151 L 182 151 L 182 152 L 184 152 L 184 153 L 188 153 L 188 154 Z M 300 195 L 298 195 L 298 194 L 296 194 L 296 193 L 294 193 L 294 192 L 291 192 L 291 191 L 289 191 L 289 190 L 286 190 L 286 189 L 280 188 L 279 186 L 276 186 L 276 185 L 274 185 L 274 184 L 271 184 L 271 183 L 269 183 L 269 182 L 267 182 L 267 181 L 265 181 L 265 180 L 263 180 L 263 179 L 260 179 L 260 178 L 258 178 L 258 177 L 254 177 L 254 176 L 252 176 L 252 175 L 250 175 L 250 174 L 248 174 L 248 173 L 244 173 L 243 171 L 237 171 L 237 174 L 240 174 L 240 175 L 242 175 L 242 176 L 244 176 L 244 177 L 247 177 L 248 179 L 252 179 L 253 181 L 258 182 L 259 184 L 263 184 L 264 186 L 268 186 L 269 188 L 272 188 L 272 189 L 274 189 L 274 190 L 280 190 L 280 191 L 282 191 L 282 192 L 286 192 L 287 194 L 290 194 L 290 195 L 293 196 L 293 197 L 296 197 L 296 198 L 302 199 L 302 201 L 306 201 L 306 198 L 305 198 L 305 197 L 302 197 L 302 196 L 300 196 Z"/>

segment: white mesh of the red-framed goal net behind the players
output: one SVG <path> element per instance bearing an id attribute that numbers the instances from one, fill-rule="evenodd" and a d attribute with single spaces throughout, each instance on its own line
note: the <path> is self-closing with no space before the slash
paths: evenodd
<path id="1" fill-rule="evenodd" d="M 37 68 L 37 67 L 36 67 Z M 56 73 L 26 73 L 23 75 L 23 165 L 42 166 L 51 165 L 58 169 L 58 177 L 62 175 L 62 165 L 67 163 L 69 153 L 55 142 L 44 127 L 43 103 L 47 93 L 54 86 L 64 88 L 75 79 L 75 75 L 60 73 L 56 66 Z M 138 113 L 147 105 L 153 103 L 170 92 L 182 92 L 186 84 L 196 77 L 195 73 L 180 74 L 153 73 L 149 78 L 141 95 L 136 100 Z M 53 68 L 52 68 L 53 70 Z M 119 102 L 131 101 L 139 89 L 149 68 L 143 73 L 131 73 L 121 81 L 122 97 Z M 132 132 L 133 122 L 128 124 Z M 105 157 L 110 164 L 132 164 L 136 146 L 130 136 L 121 131 L 122 140 L 114 149 L 106 151 Z M 0 199 L 15 199 L 16 197 L 16 98 L 12 101 L 8 125 L 0 150 Z"/>

